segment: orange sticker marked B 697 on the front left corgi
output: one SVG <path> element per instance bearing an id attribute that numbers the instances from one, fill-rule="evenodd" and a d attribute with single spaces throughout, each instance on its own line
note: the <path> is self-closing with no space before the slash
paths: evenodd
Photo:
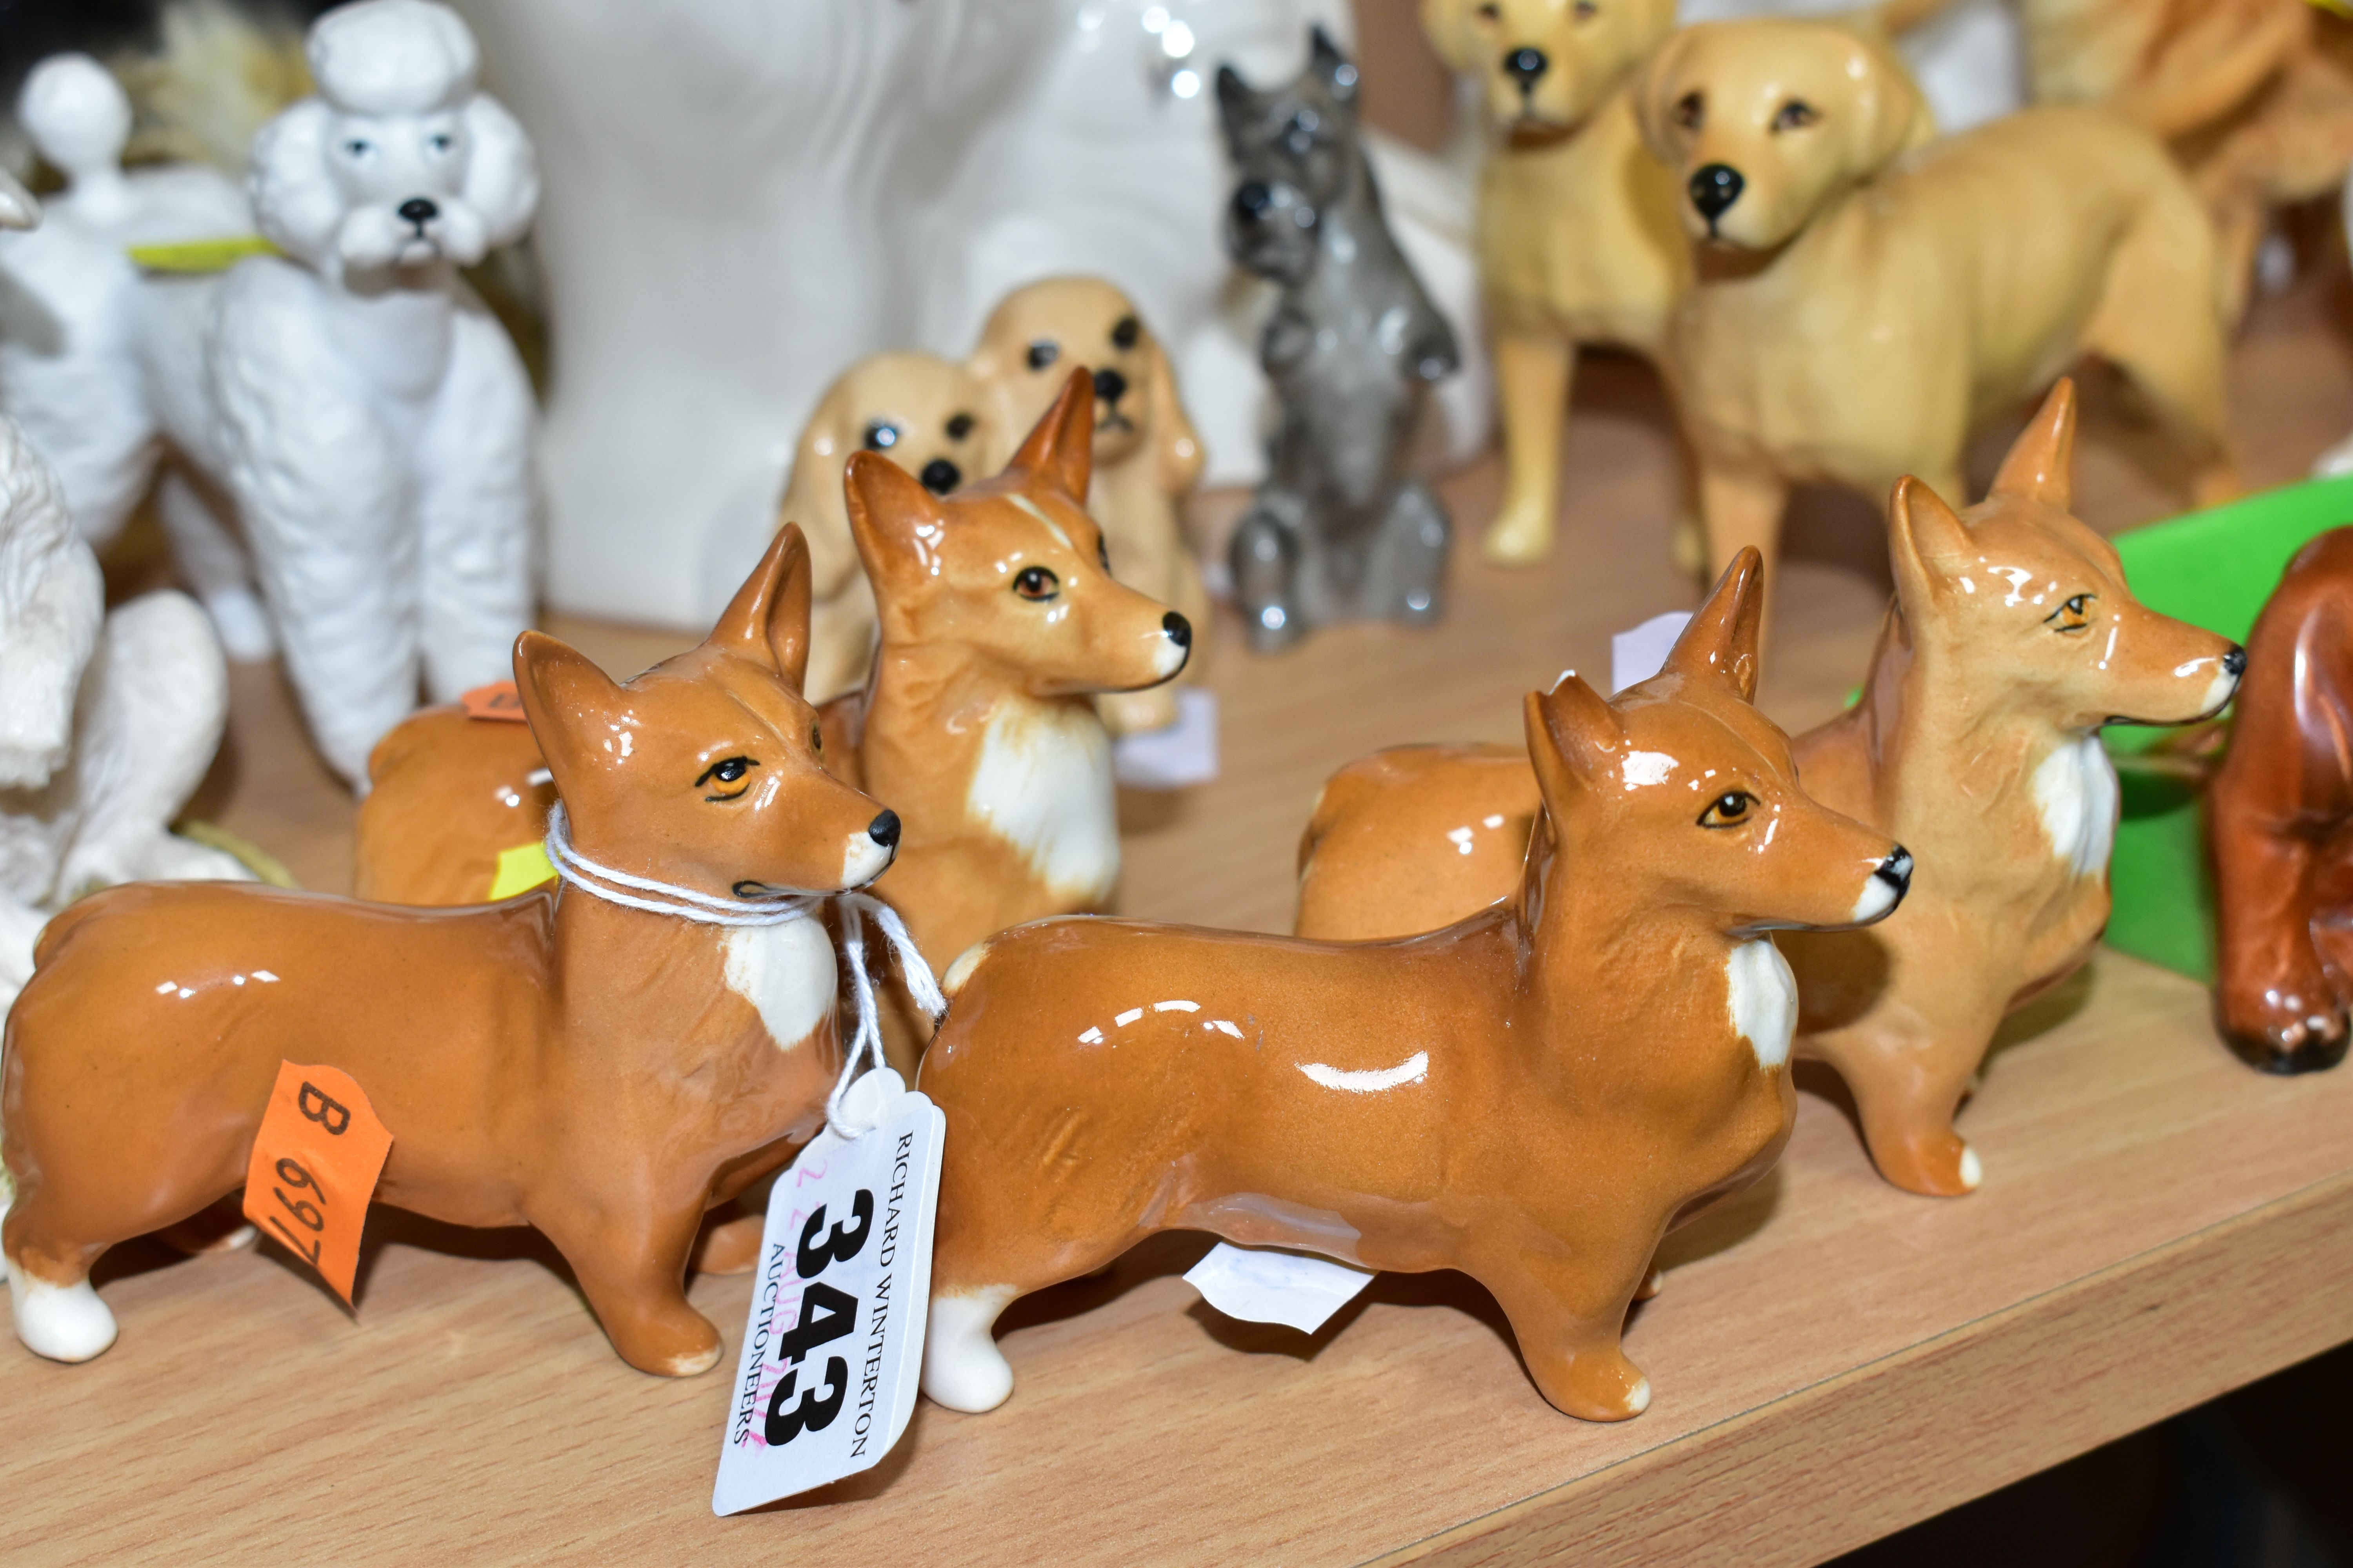
<path id="1" fill-rule="evenodd" d="M 245 1164 L 245 1218 L 351 1302 L 367 1199 L 391 1152 L 393 1135 L 348 1072 L 278 1063 L 271 1107 Z"/>

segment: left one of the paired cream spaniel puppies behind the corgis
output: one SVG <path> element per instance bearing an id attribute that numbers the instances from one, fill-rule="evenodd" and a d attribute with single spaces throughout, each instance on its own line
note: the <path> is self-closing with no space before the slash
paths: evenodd
<path id="1" fill-rule="evenodd" d="M 1059 383 L 1059 378 L 1056 378 Z M 1042 404 L 1040 404 L 1042 409 Z M 972 374 L 922 353 L 887 353 L 859 360 L 826 388 L 816 414 L 800 428 L 793 475 L 772 527 L 762 538 L 722 536 L 706 576 L 713 599 L 722 583 L 744 571 L 744 559 L 767 548 L 786 522 L 809 538 L 814 604 L 809 609 L 809 698 L 824 703 L 866 684 L 875 651 L 875 595 L 859 569 L 842 510 L 842 468 L 854 451 L 880 451 L 908 470 L 934 496 L 965 480 L 995 473 L 1005 461 L 1007 430 L 1028 430 L 1035 418 L 1002 423 L 988 393 Z"/>

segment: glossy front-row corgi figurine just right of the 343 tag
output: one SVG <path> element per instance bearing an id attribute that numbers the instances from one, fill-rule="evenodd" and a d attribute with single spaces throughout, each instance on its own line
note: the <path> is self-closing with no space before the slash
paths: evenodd
<path id="1" fill-rule="evenodd" d="M 1666 1229 L 1788 1138 L 1795 992 L 1765 931 L 1887 914 L 1911 860 L 1795 783 L 1748 705 L 1758 557 L 1666 670 L 1527 698 L 1553 832 L 1518 896 L 1400 943 L 1038 922 L 958 961 L 925 1392 L 1012 1392 L 991 1324 L 1158 1229 L 1464 1269 L 1548 1401 L 1621 1420 Z"/>

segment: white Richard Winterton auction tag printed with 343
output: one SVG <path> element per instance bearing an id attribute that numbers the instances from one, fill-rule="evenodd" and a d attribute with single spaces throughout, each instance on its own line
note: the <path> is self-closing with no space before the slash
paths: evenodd
<path id="1" fill-rule="evenodd" d="M 948 1117 L 878 1067 L 842 1119 L 868 1131 L 821 1131 L 767 1194 L 713 1514 L 873 1469 L 915 1413 Z"/>

